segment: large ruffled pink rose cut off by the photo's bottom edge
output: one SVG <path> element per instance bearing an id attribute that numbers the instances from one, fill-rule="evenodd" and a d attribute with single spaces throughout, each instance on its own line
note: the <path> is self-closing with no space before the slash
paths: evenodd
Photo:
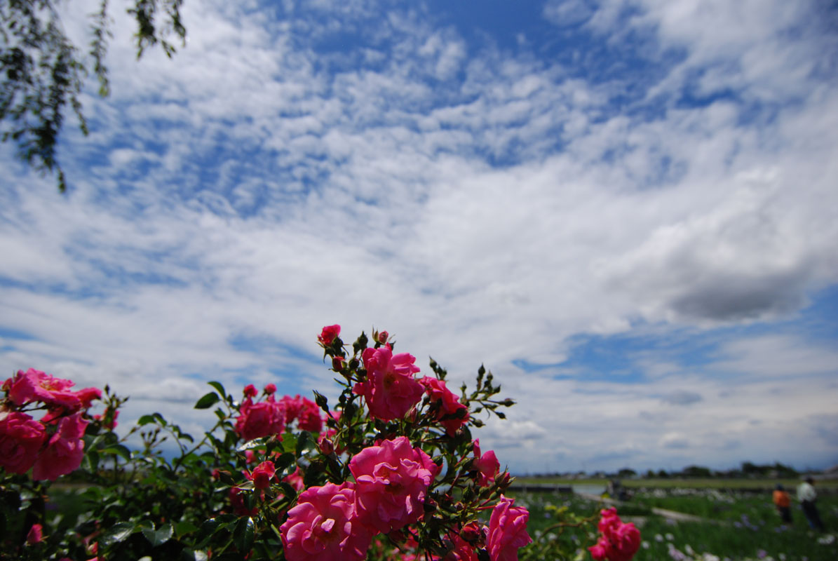
<path id="1" fill-rule="evenodd" d="M 288 561 L 361 561 L 372 539 L 355 517 L 351 483 L 327 483 L 303 491 L 279 532 Z"/>

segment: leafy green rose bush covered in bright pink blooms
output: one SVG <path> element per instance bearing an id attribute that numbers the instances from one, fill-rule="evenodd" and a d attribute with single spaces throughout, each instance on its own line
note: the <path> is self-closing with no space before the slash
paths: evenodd
<path id="1" fill-rule="evenodd" d="M 279 397 L 275 384 L 261 392 L 248 384 L 237 397 L 209 382 L 195 408 L 213 409 L 215 424 L 200 439 L 159 413 L 117 435 L 125 399 L 108 387 L 74 391 L 70 380 L 18 371 L 3 383 L 0 406 L 0 559 L 579 553 L 546 539 L 525 547 L 529 514 L 504 496 L 509 473 L 472 435 L 483 425 L 478 413 L 504 418 L 498 409 L 514 404 L 495 397 L 491 372 L 481 366 L 473 391 L 463 385 L 455 394 L 434 361 L 432 375 L 418 377 L 416 359 L 394 353 L 386 331 L 374 330 L 371 346 L 364 334 L 344 345 L 339 325 L 317 339 L 340 386 L 336 403 L 318 392 Z M 103 412 L 91 413 L 94 401 Z M 62 477 L 82 490 L 50 487 Z M 594 519 L 556 527 L 566 523 L 593 527 Z M 620 524 L 600 524 L 610 561 L 609 552 L 628 558 L 639 540 Z M 591 551 L 601 553 L 599 545 Z"/>

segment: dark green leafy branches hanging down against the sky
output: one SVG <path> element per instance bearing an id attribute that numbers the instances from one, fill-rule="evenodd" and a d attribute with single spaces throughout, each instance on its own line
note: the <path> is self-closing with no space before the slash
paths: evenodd
<path id="1" fill-rule="evenodd" d="M 91 14 L 91 41 L 83 50 L 70 41 L 59 18 L 60 0 L 9 0 L 0 3 L 0 122 L 3 142 L 11 140 L 18 155 L 42 172 L 55 172 L 59 191 L 66 190 L 56 144 L 68 107 L 87 134 L 79 99 L 92 67 L 99 94 L 110 91 L 105 58 L 111 37 L 108 0 Z M 183 0 L 135 0 L 128 8 L 137 22 L 137 58 L 160 44 L 166 55 L 175 49 L 168 38 L 183 40 Z"/>

